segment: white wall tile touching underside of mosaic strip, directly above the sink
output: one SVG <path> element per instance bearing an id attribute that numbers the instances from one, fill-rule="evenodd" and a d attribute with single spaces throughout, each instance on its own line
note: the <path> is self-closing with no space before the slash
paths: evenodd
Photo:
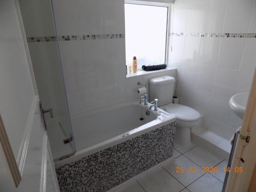
<path id="1" fill-rule="evenodd" d="M 222 38 L 218 67 L 239 70 L 245 38 Z"/>

